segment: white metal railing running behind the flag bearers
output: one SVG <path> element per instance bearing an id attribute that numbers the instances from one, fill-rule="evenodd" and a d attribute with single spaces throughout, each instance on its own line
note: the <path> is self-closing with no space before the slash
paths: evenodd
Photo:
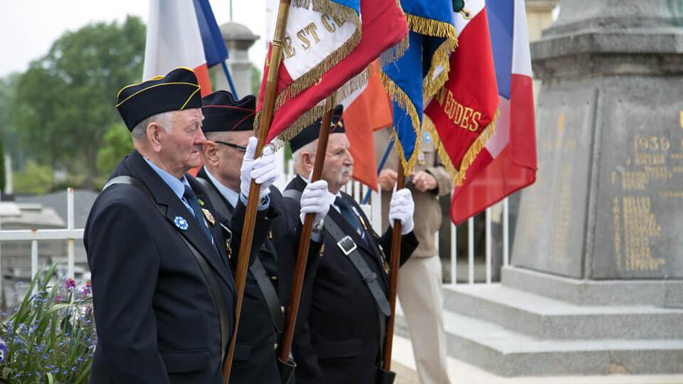
<path id="1" fill-rule="evenodd" d="M 291 171 L 291 165 L 288 169 Z M 287 183 L 295 175 L 288 172 L 277 184 L 280 189 L 284 189 Z M 369 191 L 367 186 L 362 185 L 357 181 L 349 181 L 344 186 L 344 191 L 349 191 L 351 196 L 354 196 L 359 203 Z M 381 193 L 372 192 L 369 204 L 361 205 L 366 215 L 369 216 L 373 228 L 378 232 L 381 231 Z M 73 188 L 68 188 L 67 193 L 67 228 L 65 229 L 31 229 L 31 230 L 0 230 L 0 245 L 3 242 L 11 241 L 31 241 L 31 277 L 35 276 L 38 271 L 38 241 L 40 240 L 67 240 L 68 242 L 68 272 L 70 278 L 74 278 L 74 242 L 75 240 L 83 239 L 83 229 L 74 228 L 74 213 L 73 213 Z M 509 265 L 509 220 L 508 220 L 509 206 L 507 198 L 502 201 L 502 266 Z M 444 220 L 448 220 L 445 216 Z M 482 279 L 485 284 L 492 283 L 493 275 L 493 260 L 492 250 L 494 241 L 492 238 L 492 208 L 487 208 L 485 212 L 485 274 Z M 467 254 L 464 255 L 467 260 L 467 284 L 475 284 L 475 219 L 467 220 Z M 436 238 L 436 246 L 439 249 L 438 236 Z M 450 281 L 452 284 L 457 283 L 457 260 L 461 255 L 457 252 L 457 228 L 455 225 L 450 225 Z M 0 253 L 0 265 L 2 257 Z M 2 276 L 0 274 L 0 287 L 2 285 Z M 1 289 L 1 288 L 0 288 Z"/>

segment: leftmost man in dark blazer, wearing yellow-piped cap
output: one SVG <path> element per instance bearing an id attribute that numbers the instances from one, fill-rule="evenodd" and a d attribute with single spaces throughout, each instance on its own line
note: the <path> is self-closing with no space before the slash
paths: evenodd
<path id="1" fill-rule="evenodd" d="M 186 174 L 201 164 L 200 107 L 187 68 L 117 95 L 135 149 L 85 225 L 97 322 L 90 383 L 223 383 L 236 299 L 228 257 L 237 255 L 245 207 L 238 204 L 231 223 L 221 225 Z M 259 160 L 246 177 L 272 173 Z M 270 183 L 263 181 L 266 192 Z M 277 216 L 267 196 L 259 208 L 252 252 Z"/>

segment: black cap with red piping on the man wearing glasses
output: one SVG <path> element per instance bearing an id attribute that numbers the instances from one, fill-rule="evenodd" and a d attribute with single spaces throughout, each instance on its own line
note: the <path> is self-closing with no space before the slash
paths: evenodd
<path id="1" fill-rule="evenodd" d="M 204 132 L 251 131 L 256 116 L 256 97 L 235 100 L 231 92 L 218 91 L 201 99 Z"/>

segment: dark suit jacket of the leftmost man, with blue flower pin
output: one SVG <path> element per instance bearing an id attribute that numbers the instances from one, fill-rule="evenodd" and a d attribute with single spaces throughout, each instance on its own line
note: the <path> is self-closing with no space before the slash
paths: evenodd
<path id="1" fill-rule="evenodd" d="M 190 210 L 137 151 L 118 164 L 115 176 L 142 181 L 165 215 L 144 192 L 125 184 L 100 193 L 90 210 L 84 243 L 98 338 L 90 383 L 223 383 L 218 309 L 206 277 L 180 237 L 211 266 L 232 330 L 235 284 L 223 230 L 218 222 L 210 225 L 214 247 Z M 200 195 L 201 186 L 186 177 Z M 216 215 L 210 203 L 203 208 Z M 240 204 L 229 227 L 235 255 L 244 211 Z M 268 215 L 272 212 L 259 213 L 255 233 L 268 233 Z M 186 230 L 174 224 L 178 217 L 189 223 Z M 253 250 L 264 237 L 255 238 Z"/>

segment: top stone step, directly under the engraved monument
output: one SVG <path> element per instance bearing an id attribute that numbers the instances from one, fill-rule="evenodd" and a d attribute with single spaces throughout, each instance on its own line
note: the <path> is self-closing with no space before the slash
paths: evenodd
<path id="1" fill-rule="evenodd" d="M 683 308 L 683 280 L 578 280 L 504 267 L 501 282 L 551 299 L 577 305 L 652 305 Z"/>

